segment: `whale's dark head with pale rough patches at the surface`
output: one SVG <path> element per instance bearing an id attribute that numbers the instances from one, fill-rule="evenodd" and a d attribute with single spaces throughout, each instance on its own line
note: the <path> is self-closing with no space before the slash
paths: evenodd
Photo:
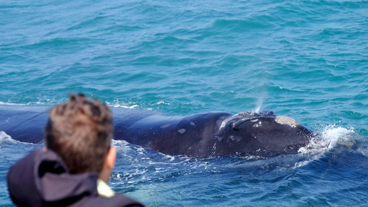
<path id="1" fill-rule="evenodd" d="M 272 111 L 241 112 L 223 120 L 215 133 L 216 155 L 226 151 L 239 153 L 297 153 L 315 133 L 288 116 Z"/>

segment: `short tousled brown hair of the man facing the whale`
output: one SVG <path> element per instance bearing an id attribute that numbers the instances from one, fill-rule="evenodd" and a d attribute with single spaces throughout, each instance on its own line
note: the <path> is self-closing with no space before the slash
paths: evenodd
<path id="1" fill-rule="evenodd" d="M 101 172 L 112 137 L 109 108 L 76 94 L 55 105 L 49 115 L 47 148 L 61 156 L 72 174 Z"/>

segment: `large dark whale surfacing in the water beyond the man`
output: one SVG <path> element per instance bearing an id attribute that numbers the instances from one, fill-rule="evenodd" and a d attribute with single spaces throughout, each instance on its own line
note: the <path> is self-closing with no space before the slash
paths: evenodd
<path id="1" fill-rule="evenodd" d="M 0 131 L 21 142 L 42 143 L 51 107 L 0 105 Z M 111 111 L 113 139 L 167 155 L 295 154 L 318 136 L 293 118 L 269 110 L 190 115 L 124 107 Z"/>

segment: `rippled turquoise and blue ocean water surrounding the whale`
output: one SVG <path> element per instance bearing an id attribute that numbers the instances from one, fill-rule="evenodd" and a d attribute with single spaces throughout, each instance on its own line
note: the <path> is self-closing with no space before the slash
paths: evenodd
<path id="1" fill-rule="evenodd" d="M 367 0 L 1 0 L 0 104 L 84 93 L 170 115 L 273 110 L 296 155 L 163 155 L 125 141 L 110 186 L 154 206 L 367 206 Z M 0 126 L 5 175 L 42 144 Z"/>

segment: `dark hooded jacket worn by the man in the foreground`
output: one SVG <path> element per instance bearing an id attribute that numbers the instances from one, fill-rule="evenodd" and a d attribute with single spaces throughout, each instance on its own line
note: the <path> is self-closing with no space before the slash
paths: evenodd
<path id="1" fill-rule="evenodd" d="M 19 207 L 143 207 L 121 194 L 98 195 L 98 173 L 69 174 L 51 150 L 34 150 L 7 174 L 10 198 Z"/>

